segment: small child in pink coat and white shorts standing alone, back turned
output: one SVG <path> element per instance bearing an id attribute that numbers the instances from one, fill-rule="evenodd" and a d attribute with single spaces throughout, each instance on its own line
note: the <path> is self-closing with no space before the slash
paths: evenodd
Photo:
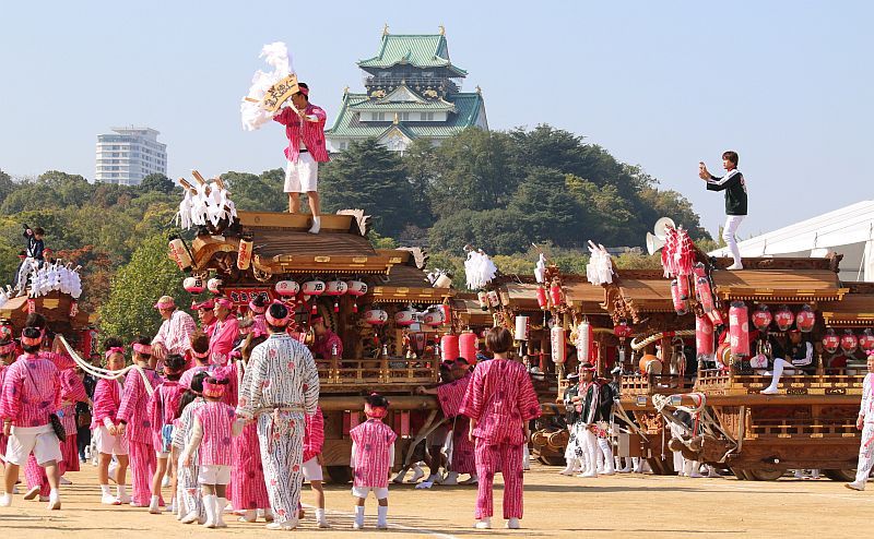
<path id="1" fill-rule="evenodd" d="M 377 524 L 388 528 L 389 472 L 394 463 L 394 441 L 398 434 L 382 422 L 388 414 L 389 402 L 373 393 L 365 398 L 364 414 L 367 421 L 350 431 L 352 439 L 352 495 L 355 496 L 355 522 L 352 527 L 364 527 L 364 502 L 370 491 L 377 498 Z"/>

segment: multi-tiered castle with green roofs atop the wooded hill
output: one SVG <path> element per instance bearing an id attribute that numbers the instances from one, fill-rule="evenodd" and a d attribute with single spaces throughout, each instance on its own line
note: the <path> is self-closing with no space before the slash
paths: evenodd
<path id="1" fill-rule="evenodd" d="M 488 129 L 480 87 L 461 92 L 468 72 L 453 65 L 442 26 L 438 34 L 393 35 L 388 26 L 377 56 L 362 60 L 363 94 L 345 89 L 324 136 L 329 152 L 376 139 L 403 152 L 416 139 L 439 144 L 466 128 Z"/>

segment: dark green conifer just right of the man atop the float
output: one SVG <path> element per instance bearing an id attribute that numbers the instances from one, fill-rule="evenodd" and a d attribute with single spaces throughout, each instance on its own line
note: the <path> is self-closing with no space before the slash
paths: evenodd
<path id="1" fill-rule="evenodd" d="M 414 215 L 401 158 L 374 139 L 353 142 L 319 170 L 319 183 L 327 212 L 364 209 L 381 235 L 397 237 Z"/>

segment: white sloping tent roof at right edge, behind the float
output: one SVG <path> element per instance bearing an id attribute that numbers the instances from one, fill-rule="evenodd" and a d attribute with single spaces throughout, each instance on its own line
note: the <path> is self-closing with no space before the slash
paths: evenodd
<path id="1" fill-rule="evenodd" d="M 841 280 L 874 282 L 874 201 L 862 201 L 737 243 L 741 256 L 843 254 Z M 713 256 L 731 256 L 718 249 Z"/>

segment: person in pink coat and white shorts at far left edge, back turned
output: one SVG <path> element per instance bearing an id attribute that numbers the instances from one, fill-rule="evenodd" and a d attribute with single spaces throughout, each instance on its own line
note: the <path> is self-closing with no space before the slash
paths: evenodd
<path id="1" fill-rule="evenodd" d="M 49 415 L 55 414 L 60 405 L 61 382 L 55 363 L 39 355 L 42 340 L 40 330 L 25 327 L 21 336 L 24 355 L 7 368 L 3 379 L 0 418 L 3 421 L 3 435 L 9 441 L 3 474 L 5 493 L 0 496 L 0 507 L 12 504 L 19 468 L 33 453 L 48 475 L 48 508 L 61 508 L 58 463 L 63 456 L 60 441 L 49 422 Z"/>

